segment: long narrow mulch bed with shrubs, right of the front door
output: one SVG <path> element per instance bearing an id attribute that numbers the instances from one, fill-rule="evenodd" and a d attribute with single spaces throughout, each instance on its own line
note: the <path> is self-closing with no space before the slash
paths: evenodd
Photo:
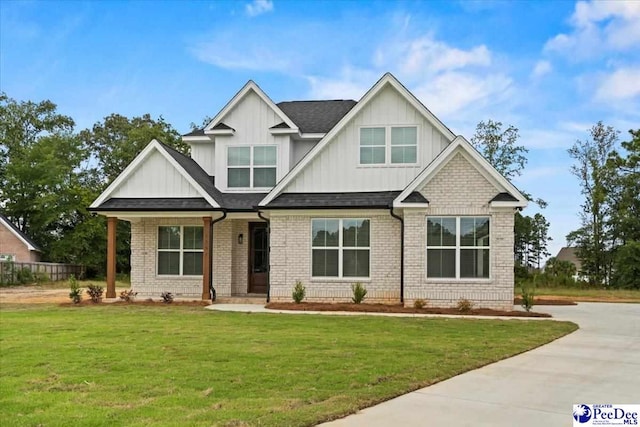
<path id="1" fill-rule="evenodd" d="M 505 316 L 505 317 L 551 317 L 547 313 L 525 311 L 501 311 L 488 308 L 477 308 L 467 313 L 461 313 L 456 308 L 414 308 L 391 304 L 349 304 L 349 303 L 317 303 L 302 302 L 272 302 L 265 306 L 272 310 L 297 310 L 297 311 L 350 311 L 361 313 L 415 313 L 415 314 L 456 314 L 474 316 Z"/>

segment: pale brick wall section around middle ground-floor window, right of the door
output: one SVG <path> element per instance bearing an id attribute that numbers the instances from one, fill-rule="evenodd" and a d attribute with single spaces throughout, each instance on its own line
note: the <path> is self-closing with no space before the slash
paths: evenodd
<path id="1" fill-rule="evenodd" d="M 311 278 L 311 219 L 344 218 L 336 214 L 275 216 L 271 218 L 271 300 L 291 301 L 296 280 L 305 285 L 307 301 L 349 302 L 351 279 Z M 365 302 L 400 300 L 400 222 L 382 211 L 351 215 L 371 219 L 370 280 Z"/>

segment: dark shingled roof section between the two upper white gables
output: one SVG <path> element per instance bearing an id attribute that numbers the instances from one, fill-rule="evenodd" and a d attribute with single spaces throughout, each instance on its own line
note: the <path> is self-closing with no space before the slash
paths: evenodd
<path id="1" fill-rule="evenodd" d="M 331 101 L 287 101 L 276 104 L 302 133 L 327 133 L 355 105 L 352 99 Z"/>

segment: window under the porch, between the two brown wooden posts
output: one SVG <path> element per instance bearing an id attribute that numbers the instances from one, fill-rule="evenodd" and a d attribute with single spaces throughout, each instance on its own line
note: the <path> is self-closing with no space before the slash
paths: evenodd
<path id="1" fill-rule="evenodd" d="M 202 275 L 202 227 L 158 227 L 158 275 Z"/>

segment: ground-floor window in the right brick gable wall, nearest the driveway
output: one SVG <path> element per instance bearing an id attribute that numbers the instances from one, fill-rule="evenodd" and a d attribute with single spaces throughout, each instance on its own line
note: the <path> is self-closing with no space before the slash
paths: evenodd
<path id="1" fill-rule="evenodd" d="M 427 217 L 427 278 L 488 279 L 489 217 Z"/>

